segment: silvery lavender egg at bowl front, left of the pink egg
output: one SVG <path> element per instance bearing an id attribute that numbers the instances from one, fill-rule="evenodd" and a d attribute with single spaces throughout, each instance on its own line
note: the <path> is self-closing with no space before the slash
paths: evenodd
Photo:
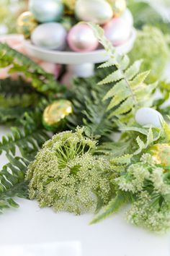
<path id="1" fill-rule="evenodd" d="M 57 22 L 39 25 L 31 35 L 32 43 L 49 50 L 63 50 L 66 47 L 66 29 Z"/>

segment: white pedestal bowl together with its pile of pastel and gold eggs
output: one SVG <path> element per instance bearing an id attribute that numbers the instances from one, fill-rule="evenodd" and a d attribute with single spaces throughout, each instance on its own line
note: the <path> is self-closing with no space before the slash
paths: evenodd
<path id="1" fill-rule="evenodd" d="M 30 0 L 29 11 L 19 16 L 17 27 L 28 54 L 72 66 L 78 76 L 83 65 L 81 76 L 87 77 L 107 55 L 91 27 L 82 21 L 100 25 L 118 53 L 133 48 L 133 16 L 125 0 Z"/>

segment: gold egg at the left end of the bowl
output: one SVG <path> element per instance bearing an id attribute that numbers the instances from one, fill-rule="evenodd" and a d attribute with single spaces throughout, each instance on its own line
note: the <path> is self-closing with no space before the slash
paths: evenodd
<path id="1" fill-rule="evenodd" d="M 18 33 L 24 35 L 24 38 L 30 38 L 30 35 L 38 23 L 31 12 L 23 12 L 17 19 Z"/>

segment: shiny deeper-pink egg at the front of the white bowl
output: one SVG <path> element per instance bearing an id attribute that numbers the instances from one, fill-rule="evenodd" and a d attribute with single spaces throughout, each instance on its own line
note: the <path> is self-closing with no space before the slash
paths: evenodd
<path id="1" fill-rule="evenodd" d="M 68 33 L 68 46 L 73 51 L 94 51 L 98 46 L 98 40 L 89 25 L 77 24 Z"/>

